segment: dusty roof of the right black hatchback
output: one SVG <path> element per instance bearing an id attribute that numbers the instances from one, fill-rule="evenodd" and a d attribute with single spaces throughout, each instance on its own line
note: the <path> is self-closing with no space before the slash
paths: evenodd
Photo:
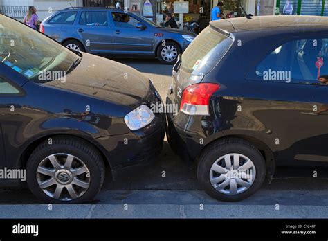
<path id="1" fill-rule="evenodd" d="M 279 15 L 279 16 L 256 16 L 247 19 L 246 17 L 235 17 L 210 21 L 210 26 L 221 28 L 229 33 L 242 32 L 247 30 L 268 30 L 275 31 L 299 29 L 300 32 L 306 28 L 316 30 L 328 30 L 328 17 L 307 16 L 307 15 Z"/>

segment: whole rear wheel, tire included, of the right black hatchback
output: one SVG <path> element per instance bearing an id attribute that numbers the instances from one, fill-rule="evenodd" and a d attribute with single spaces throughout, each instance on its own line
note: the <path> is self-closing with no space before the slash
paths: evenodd
<path id="1" fill-rule="evenodd" d="M 262 154 L 241 139 L 218 141 L 199 159 L 197 176 L 201 187 L 215 199 L 239 201 L 264 183 L 266 166 Z"/>

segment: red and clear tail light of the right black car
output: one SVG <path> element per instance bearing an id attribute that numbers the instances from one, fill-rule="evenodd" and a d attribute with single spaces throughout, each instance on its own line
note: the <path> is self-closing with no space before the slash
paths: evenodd
<path id="1" fill-rule="evenodd" d="M 192 84 L 183 91 L 180 110 L 189 115 L 208 116 L 210 97 L 219 89 L 219 84 Z"/>

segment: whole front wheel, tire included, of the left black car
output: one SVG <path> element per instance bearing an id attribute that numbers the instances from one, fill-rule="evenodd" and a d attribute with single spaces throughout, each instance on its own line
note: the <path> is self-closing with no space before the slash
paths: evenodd
<path id="1" fill-rule="evenodd" d="M 104 163 L 86 141 L 55 137 L 30 155 L 28 187 L 42 201 L 53 204 L 89 202 L 104 182 Z"/>

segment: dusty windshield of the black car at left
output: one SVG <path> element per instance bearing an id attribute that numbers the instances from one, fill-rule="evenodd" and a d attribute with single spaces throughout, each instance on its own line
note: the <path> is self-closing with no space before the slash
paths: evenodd
<path id="1" fill-rule="evenodd" d="M 79 58 L 64 46 L 24 24 L 0 15 L 0 64 L 6 64 L 29 80 L 45 72 L 62 73 Z M 46 80 L 55 75 L 47 75 Z"/>

